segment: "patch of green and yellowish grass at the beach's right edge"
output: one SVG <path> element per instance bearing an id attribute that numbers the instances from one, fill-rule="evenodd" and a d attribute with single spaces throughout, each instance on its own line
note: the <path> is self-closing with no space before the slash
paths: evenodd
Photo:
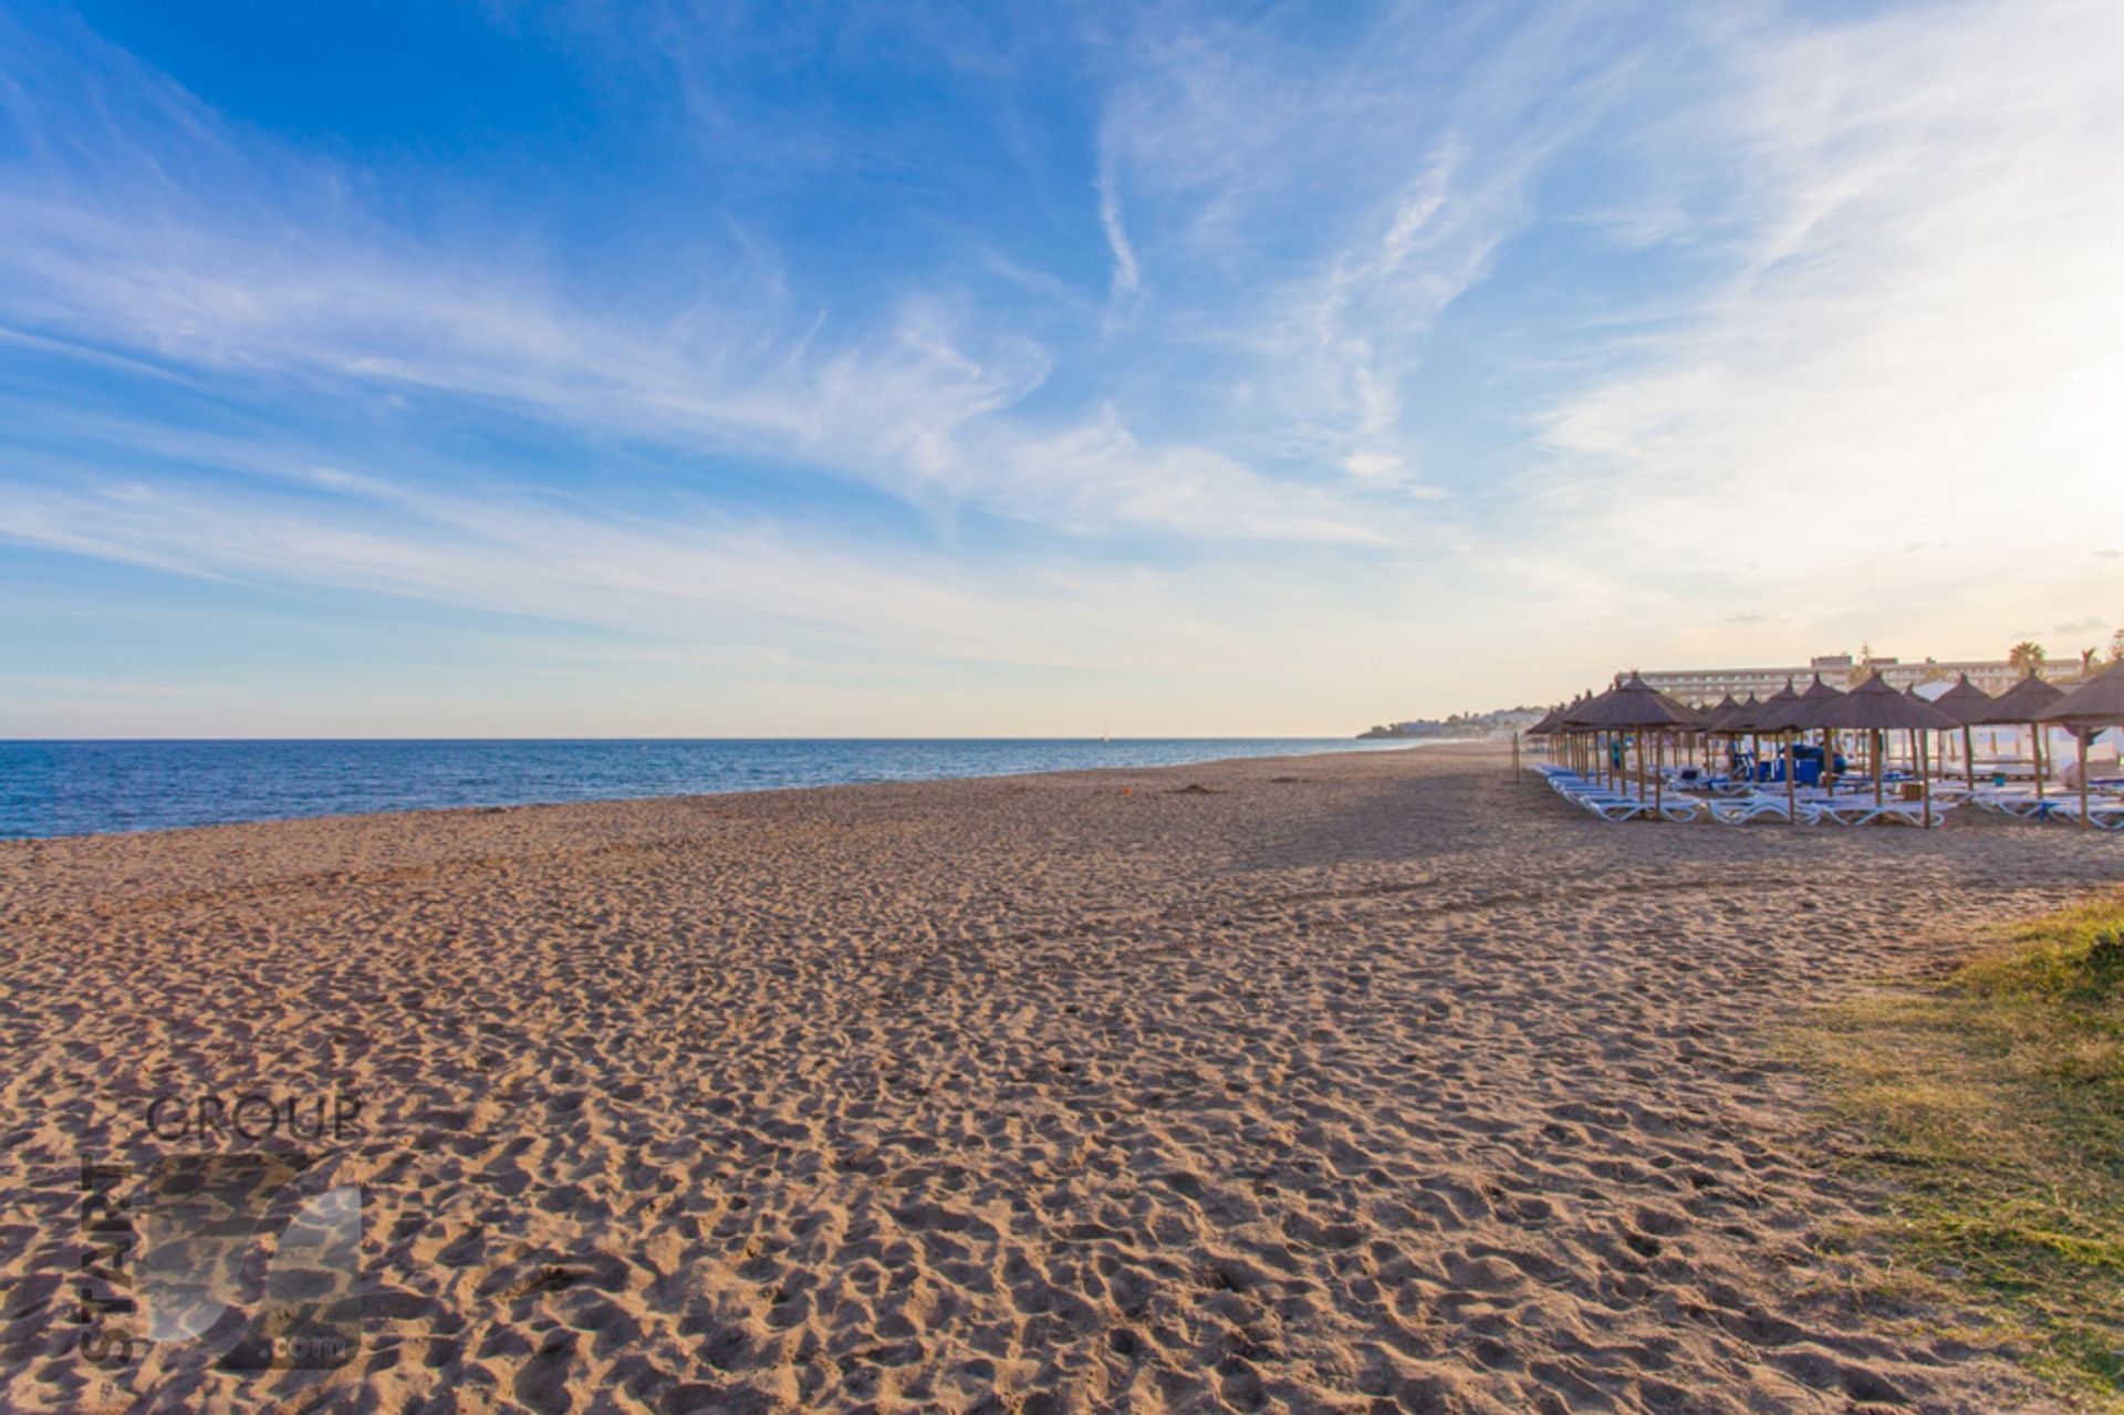
<path id="1" fill-rule="evenodd" d="M 1901 1264 L 2124 1411 L 2124 897 L 1999 928 L 1946 979 L 1803 1035 L 1888 1181 Z"/>

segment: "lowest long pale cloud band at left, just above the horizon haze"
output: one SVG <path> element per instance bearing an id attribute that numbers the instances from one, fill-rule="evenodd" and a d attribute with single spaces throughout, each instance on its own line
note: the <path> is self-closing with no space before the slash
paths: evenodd
<path id="1" fill-rule="evenodd" d="M 312 465 L 280 480 L 310 493 L 174 478 L 17 484 L 8 535 L 223 582 L 374 591 L 665 642 L 862 644 L 1028 667 L 1081 667 L 1138 642 L 1130 606 L 1160 593 L 1158 576 L 1117 574 L 1064 597 L 1030 567 L 1005 589 L 947 559 L 884 563 L 860 544 L 792 542 L 705 508 L 620 516 Z"/>

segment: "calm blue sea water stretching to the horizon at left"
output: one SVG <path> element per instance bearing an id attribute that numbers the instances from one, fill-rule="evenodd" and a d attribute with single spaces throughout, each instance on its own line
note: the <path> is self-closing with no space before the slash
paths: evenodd
<path id="1" fill-rule="evenodd" d="M 0 741 L 0 839 L 446 805 L 678 797 L 1408 746 L 1132 741 Z"/>

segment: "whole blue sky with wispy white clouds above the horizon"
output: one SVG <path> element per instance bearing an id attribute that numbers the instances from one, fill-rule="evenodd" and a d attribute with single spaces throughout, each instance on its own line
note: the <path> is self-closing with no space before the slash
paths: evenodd
<path id="1" fill-rule="evenodd" d="M 2124 625 L 2124 8 L 0 4 L 0 735 Z"/>

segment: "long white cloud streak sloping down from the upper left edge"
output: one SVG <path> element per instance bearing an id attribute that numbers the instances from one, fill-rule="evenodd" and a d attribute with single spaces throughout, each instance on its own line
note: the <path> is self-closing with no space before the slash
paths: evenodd
<path id="1" fill-rule="evenodd" d="M 907 291 L 886 323 L 858 329 L 835 329 L 824 306 L 760 302 L 750 289 L 705 289 L 650 317 L 595 312 L 554 289 L 537 261 L 491 263 L 408 242 L 348 206 L 329 170 L 274 164 L 268 176 L 212 113 L 168 85 L 151 87 L 147 113 L 198 140 L 183 153 L 183 189 L 159 181 L 159 138 L 134 132 L 121 104 L 106 110 L 104 151 L 119 157 L 96 183 L 70 181 L 68 142 L 42 144 L 62 155 L 0 178 L 0 321 L 17 338 L 176 372 L 480 399 L 571 427 L 780 459 L 922 506 L 964 501 L 1079 531 L 1136 521 L 1189 538 L 1372 533 L 1355 508 L 1228 455 L 1145 446 L 1141 433 L 1113 440 L 1104 412 L 1083 436 L 1126 444 L 1130 457 L 1079 463 L 1066 482 L 1041 476 L 1070 438 L 1068 421 L 1007 414 L 1043 385 L 1051 355 L 1013 329 L 973 327 L 952 300 Z M 42 134 L 47 119 L 32 119 Z M 268 219 L 261 189 L 278 193 Z M 232 204 L 236 221 L 221 215 Z M 1132 291 L 1126 236 L 1119 242 L 1117 289 Z M 975 431 L 979 457 L 966 455 Z M 1185 484 L 1172 495 L 1130 491 L 1160 465 Z M 1232 495 L 1185 495 L 1204 480 Z M 1041 487 L 1062 499 L 1043 501 Z M 1285 495 L 1289 516 L 1264 514 Z"/>

